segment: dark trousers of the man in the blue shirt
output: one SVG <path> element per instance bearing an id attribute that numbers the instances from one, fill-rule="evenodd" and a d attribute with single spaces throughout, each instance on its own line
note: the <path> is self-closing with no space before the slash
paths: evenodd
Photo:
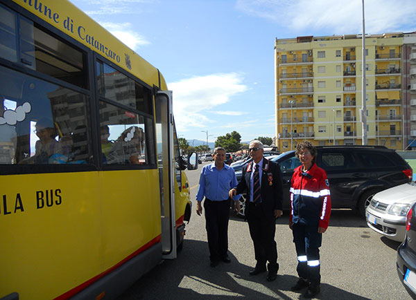
<path id="1" fill-rule="evenodd" d="M 205 198 L 204 208 L 209 259 L 220 261 L 228 251 L 229 200 L 211 201 Z"/>

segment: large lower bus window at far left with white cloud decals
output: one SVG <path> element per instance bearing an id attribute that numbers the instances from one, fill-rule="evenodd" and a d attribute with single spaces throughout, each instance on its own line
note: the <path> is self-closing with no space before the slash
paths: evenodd
<path id="1" fill-rule="evenodd" d="M 89 162 L 92 138 L 85 95 L 3 66 L 0 82 L 2 164 Z"/>

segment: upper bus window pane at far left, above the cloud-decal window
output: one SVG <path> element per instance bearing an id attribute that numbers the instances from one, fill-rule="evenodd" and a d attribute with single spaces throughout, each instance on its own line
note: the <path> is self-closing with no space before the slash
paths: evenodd
<path id="1" fill-rule="evenodd" d="M 0 16 L 0 44 L 6 48 L 6 51 L 0 51 L 0 57 L 87 88 L 82 52 L 3 6 L 0 6 Z M 17 52 L 17 49 L 20 51 Z"/>

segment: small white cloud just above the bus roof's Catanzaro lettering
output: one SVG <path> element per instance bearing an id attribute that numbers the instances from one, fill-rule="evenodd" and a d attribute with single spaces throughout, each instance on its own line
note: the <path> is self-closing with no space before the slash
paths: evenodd
<path id="1" fill-rule="evenodd" d="M 122 41 L 124 44 L 129 46 L 132 50 L 137 50 L 139 46 L 150 44 L 150 41 L 146 40 L 145 37 L 139 35 L 132 29 L 130 23 L 110 23 L 110 22 L 99 22 L 101 26 L 110 31 L 114 37 Z"/>

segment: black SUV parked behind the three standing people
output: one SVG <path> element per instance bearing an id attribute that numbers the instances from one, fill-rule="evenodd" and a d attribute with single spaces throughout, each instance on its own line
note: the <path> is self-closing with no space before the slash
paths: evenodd
<path id="1" fill-rule="evenodd" d="M 412 168 L 395 150 L 383 146 L 316 147 L 316 164 L 327 171 L 332 208 L 358 209 L 365 216 L 365 207 L 374 194 L 383 189 L 410 182 Z M 283 176 L 284 209 L 290 206 L 289 189 L 293 170 L 301 165 L 295 151 L 281 153 L 278 162 Z M 237 180 L 241 172 L 236 172 Z M 246 196 L 241 197 L 241 202 Z M 241 214 L 244 214 L 242 209 Z"/>

